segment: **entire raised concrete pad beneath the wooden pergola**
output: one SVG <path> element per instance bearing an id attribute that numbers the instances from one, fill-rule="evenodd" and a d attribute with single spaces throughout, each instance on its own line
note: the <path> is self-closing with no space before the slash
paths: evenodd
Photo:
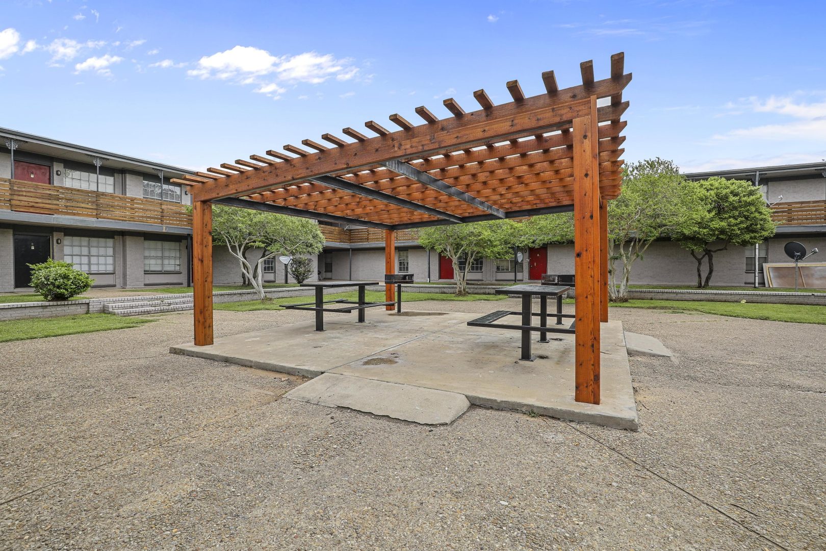
<path id="1" fill-rule="evenodd" d="M 323 333 L 306 321 L 170 351 L 307 377 L 337 373 L 456 392 L 477 406 L 637 430 L 621 322 L 602 324 L 602 403 L 595 406 L 573 398 L 573 335 L 551 333 L 550 343 L 534 340 L 537 359 L 524 362 L 518 331 L 468 327 L 477 316 L 382 311 L 371 312 L 363 324 L 354 316 L 328 316 Z"/>

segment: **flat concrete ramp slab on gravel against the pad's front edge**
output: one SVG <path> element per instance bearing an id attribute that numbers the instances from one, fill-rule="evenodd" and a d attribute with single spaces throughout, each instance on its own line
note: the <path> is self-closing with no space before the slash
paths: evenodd
<path id="1" fill-rule="evenodd" d="M 293 388 L 285 398 L 329 407 L 347 407 L 419 423 L 447 425 L 470 407 L 457 392 L 324 373 Z"/>

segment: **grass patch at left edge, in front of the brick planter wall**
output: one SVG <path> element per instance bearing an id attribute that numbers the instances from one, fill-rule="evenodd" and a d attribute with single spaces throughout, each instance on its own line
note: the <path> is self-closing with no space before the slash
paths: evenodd
<path id="1" fill-rule="evenodd" d="M 0 321 L 0 343 L 10 340 L 40 339 L 59 335 L 76 335 L 112 329 L 126 329 L 154 321 L 140 317 L 122 317 L 113 314 L 78 314 Z"/>

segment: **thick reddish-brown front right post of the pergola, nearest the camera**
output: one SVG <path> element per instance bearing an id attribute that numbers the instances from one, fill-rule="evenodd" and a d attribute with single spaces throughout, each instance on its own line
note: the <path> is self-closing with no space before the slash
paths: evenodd
<path id="1" fill-rule="evenodd" d="M 577 331 L 574 336 L 574 399 L 600 403 L 600 192 L 596 97 L 591 116 L 573 120 L 574 273 Z"/>

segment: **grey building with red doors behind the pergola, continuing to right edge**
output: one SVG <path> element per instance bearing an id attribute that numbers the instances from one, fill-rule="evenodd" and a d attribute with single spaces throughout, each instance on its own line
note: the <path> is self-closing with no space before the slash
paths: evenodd
<path id="1" fill-rule="evenodd" d="M 699 180 L 721 176 L 748 180 L 760 186 L 772 205 L 777 222 L 776 236 L 757 247 L 734 247 L 714 255 L 712 283 L 721 286 L 763 284 L 762 264 L 786 262 L 783 245 L 800 241 L 807 248 L 819 247 L 826 261 L 826 164 L 796 164 L 754 169 L 690 173 Z M 320 277 L 328 279 L 380 279 L 384 272 L 383 234 L 367 228 L 321 226 L 327 238 L 319 261 Z M 453 267 L 438 254 L 428 254 L 415 240 L 415 232 L 396 235 L 396 270 L 413 273 L 416 281 L 449 281 Z M 477 259 L 468 273 L 471 281 L 513 282 L 539 280 L 543 273 L 573 273 L 573 246 L 548 245 L 522 251 L 524 262 L 513 258 Z M 757 259 L 755 259 L 757 254 Z M 757 272 L 755 268 L 757 267 Z M 514 273 L 516 270 L 516 273 Z M 653 243 L 643 259 L 634 264 L 634 284 L 692 285 L 696 262 L 691 254 L 672 241 Z"/>

